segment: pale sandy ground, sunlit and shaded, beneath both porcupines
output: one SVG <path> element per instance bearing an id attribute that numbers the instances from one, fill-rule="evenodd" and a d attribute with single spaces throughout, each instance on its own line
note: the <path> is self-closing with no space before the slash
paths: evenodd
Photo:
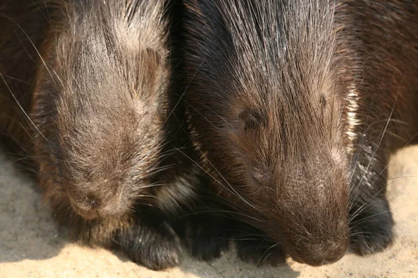
<path id="1" fill-rule="evenodd" d="M 178 268 L 146 270 L 123 254 L 71 243 L 42 205 L 31 179 L 0 154 L 0 277 L 418 277 L 418 147 L 396 154 L 389 167 L 389 202 L 396 220 L 396 243 L 385 252 L 347 254 L 333 265 L 311 268 L 289 261 L 258 268 L 233 252 L 212 263 L 187 255 Z"/>

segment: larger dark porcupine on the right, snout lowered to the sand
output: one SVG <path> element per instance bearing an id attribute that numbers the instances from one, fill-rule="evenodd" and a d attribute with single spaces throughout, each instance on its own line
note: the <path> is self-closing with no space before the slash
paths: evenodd
<path id="1" fill-rule="evenodd" d="M 417 133 L 418 4 L 184 3 L 189 133 L 248 224 L 240 257 L 323 265 L 392 243 L 386 169 Z"/>

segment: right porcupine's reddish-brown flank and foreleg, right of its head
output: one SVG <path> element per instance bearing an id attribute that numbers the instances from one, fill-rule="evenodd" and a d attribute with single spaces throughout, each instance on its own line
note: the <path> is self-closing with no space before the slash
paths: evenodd
<path id="1" fill-rule="evenodd" d="M 353 171 L 350 247 L 373 254 L 395 236 L 385 197 L 389 156 L 417 142 L 418 3 L 338 1 L 335 22 L 335 59 L 346 84 L 344 147 Z"/>

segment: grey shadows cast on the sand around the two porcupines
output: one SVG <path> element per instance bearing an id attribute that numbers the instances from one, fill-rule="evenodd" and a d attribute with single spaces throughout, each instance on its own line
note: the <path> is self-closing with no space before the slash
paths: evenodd
<path id="1" fill-rule="evenodd" d="M 73 243 L 65 229 L 54 221 L 49 206 L 42 203 L 34 179 L 17 170 L 0 151 L 0 263 L 46 260 L 58 256 L 64 245 Z M 129 261 L 114 252 L 121 264 Z M 100 260 L 98 260 L 100 263 Z M 143 273 L 140 266 L 138 270 Z M 197 277 L 297 277 L 288 265 L 256 267 L 238 260 L 234 252 L 210 263 L 183 255 L 180 270 Z M 146 270 L 144 270 L 146 272 Z"/>

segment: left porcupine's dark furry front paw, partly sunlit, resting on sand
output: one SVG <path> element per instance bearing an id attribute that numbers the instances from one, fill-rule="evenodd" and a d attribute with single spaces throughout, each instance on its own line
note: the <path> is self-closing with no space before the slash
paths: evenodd
<path id="1" fill-rule="evenodd" d="M 180 263 L 180 240 L 169 224 L 132 228 L 119 241 L 134 263 L 151 270 L 164 270 Z"/>

